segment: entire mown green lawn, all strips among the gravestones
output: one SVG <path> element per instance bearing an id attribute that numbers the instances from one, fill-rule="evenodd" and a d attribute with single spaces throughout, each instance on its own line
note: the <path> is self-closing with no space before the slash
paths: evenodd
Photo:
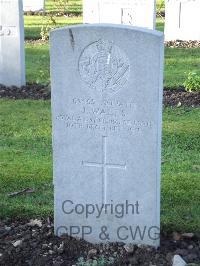
<path id="1" fill-rule="evenodd" d="M 55 11 L 53 1 L 47 0 L 47 11 Z M 80 0 L 69 4 L 71 12 L 81 11 Z M 25 16 L 26 39 L 39 39 L 47 20 Z M 82 17 L 56 17 L 56 22 L 56 27 L 79 24 Z M 157 29 L 163 28 L 163 19 L 158 18 Z M 28 82 L 50 82 L 48 44 L 26 43 L 26 71 Z M 182 86 L 189 71 L 200 73 L 200 48 L 165 49 L 165 87 Z M 166 108 L 163 119 L 162 228 L 199 232 L 200 109 Z M 0 121 L 0 218 L 52 216 L 50 101 L 2 99 Z M 8 197 L 25 188 L 35 192 Z"/>

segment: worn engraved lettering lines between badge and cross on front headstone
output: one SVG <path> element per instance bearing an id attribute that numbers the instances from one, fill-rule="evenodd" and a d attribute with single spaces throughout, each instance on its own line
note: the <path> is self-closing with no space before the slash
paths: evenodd
<path id="1" fill-rule="evenodd" d="M 126 132 L 129 135 L 151 130 L 153 122 L 137 119 L 137 105 L 133 101 L 104 100 L 98 103 L 93 98 L 71 99 L 71 111 L 58 114 L 56 120 L 67 129 L 98 131 L 102 134 Z M 76 111 L 73 111 L 76 110 Z"/>

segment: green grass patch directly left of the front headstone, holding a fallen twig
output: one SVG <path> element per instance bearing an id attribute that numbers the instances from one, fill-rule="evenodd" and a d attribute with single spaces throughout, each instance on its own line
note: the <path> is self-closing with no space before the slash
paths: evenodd
<path id="1" fill-rule="evenodd" d="M 0 216 L 52 213 L 50 104 L 42 101 L 0 102 Z M 9 192 L 33 188 L 28 196 Z"/>

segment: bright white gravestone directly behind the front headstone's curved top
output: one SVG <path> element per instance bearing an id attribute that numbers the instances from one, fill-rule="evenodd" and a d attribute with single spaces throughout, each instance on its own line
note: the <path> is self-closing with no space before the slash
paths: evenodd
<path id="1" fill-rule="evenodd" d="M 84 23 L 114 23 L 155 29 L 155 0 L 84 0 Z"/>

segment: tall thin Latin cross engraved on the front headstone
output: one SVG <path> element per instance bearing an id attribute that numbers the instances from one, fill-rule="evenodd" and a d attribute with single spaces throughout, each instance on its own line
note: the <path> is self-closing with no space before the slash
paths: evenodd
<path id="1" fill-rule="evenodd" d="M 102 169 L 102 202 L 106 203 L 107 197 L 107 170 L 108 169 L 120 169 L 126 170 L 126 164 L 110 164 L 107 163 L 107 137 L 102 137 L 102 162 L 84 162 L 83 166 L 87 167 L 97 167 Z"/>

